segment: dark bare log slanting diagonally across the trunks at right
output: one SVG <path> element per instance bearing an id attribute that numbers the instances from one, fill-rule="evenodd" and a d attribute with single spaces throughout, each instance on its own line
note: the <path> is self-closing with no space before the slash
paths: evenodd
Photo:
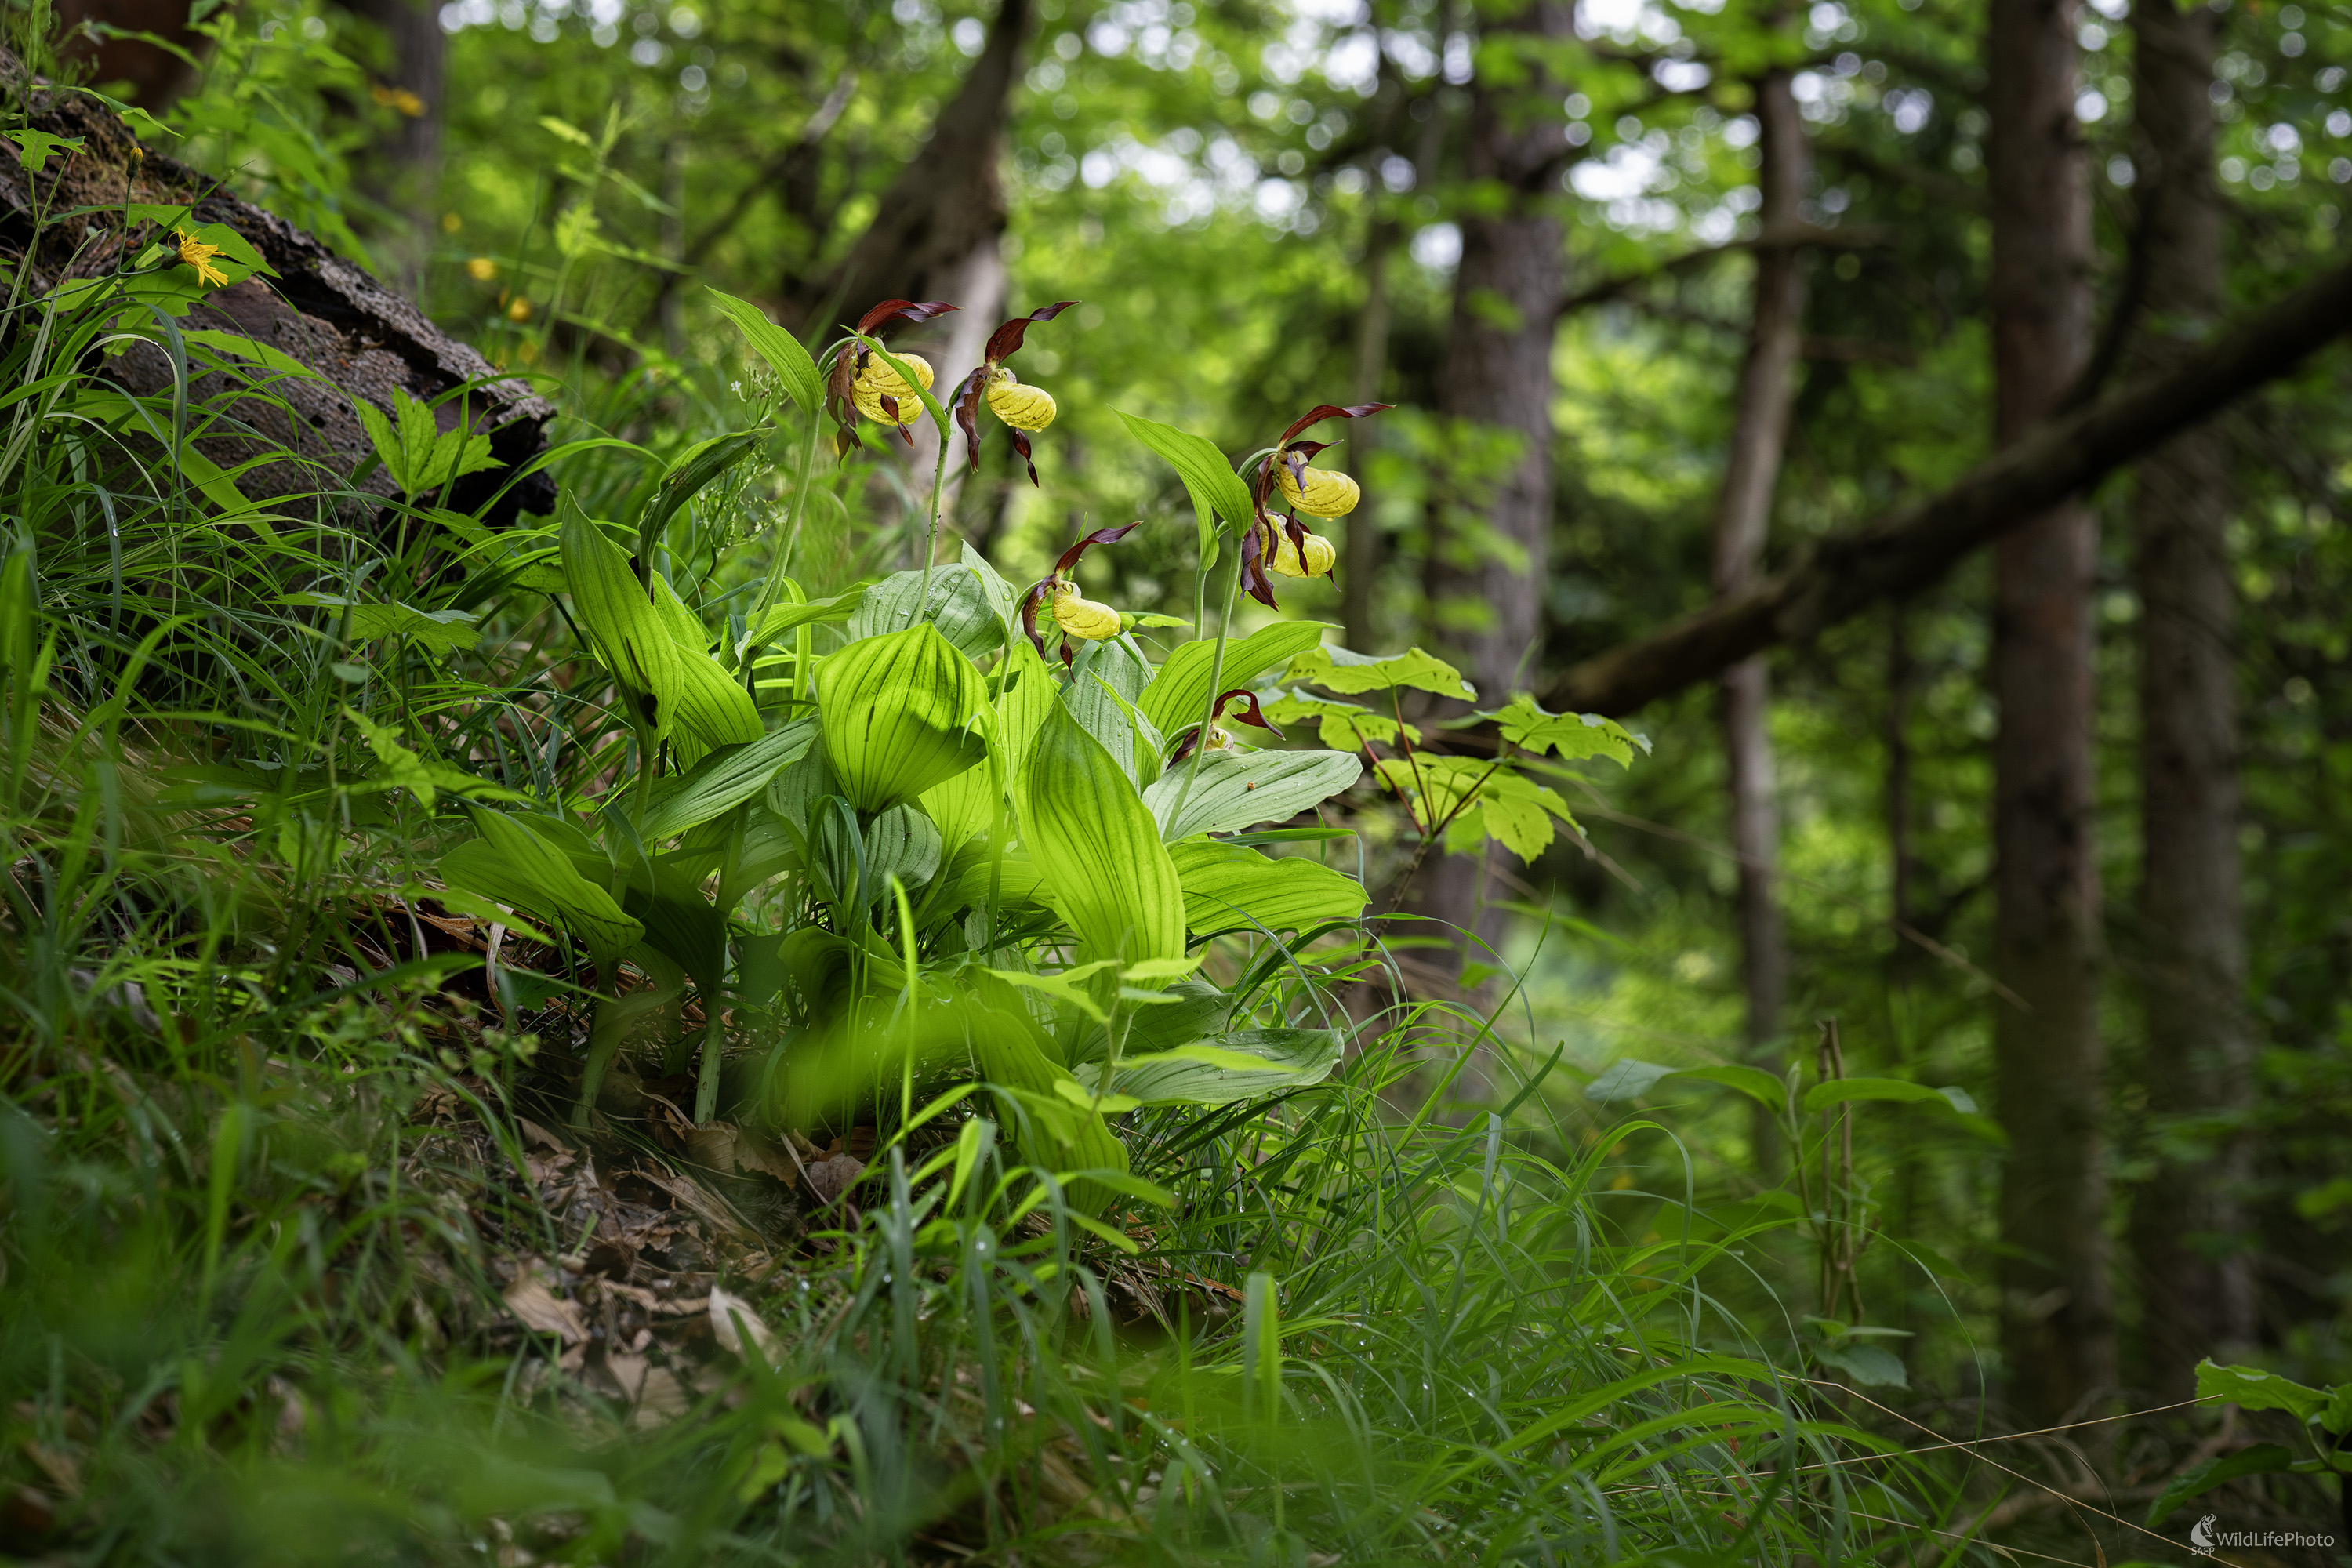
<path id="1" fill-rule="evenodd" d="M 1628 715 L 1750 654 L 1806 642 L 1879 599 L 1919 592 L 1969 552 L 2277 381 L 2345 331 L 2352 331 L 2352 263 L 2216 336 L 2173 371 L 2042 425 L 1947 491 L 1818 538 L 1748 592 L 1571 665 L 1545 686 L 1543 705 Z"/>

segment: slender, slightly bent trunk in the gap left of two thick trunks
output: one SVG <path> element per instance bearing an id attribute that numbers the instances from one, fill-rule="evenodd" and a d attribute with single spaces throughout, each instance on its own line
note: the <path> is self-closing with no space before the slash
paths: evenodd
<path id="1" fill-rule="evenodd" d="M 1764 233 L 1795 228 L 1813 148 L 1790 92 L 1790 73 L 1766 71 L 1757 85 L 1757 219 Z M 1740 367 L 1731 454 L 1715 508 L 1715 592 L 1755 585 L 1771 529 L 1771 498 L 1788 449 L 1788 421 L 1804 350 L 1804 254 L 1792 244 L 1757 249 L 1755 329 Z M 1771 668 L 1762 654 L 1724 670 L 1724 762 L 1731 780 L 1731 849 L 1738 853 L 1740 978 L 1748 990 L 1748 1058 L 1780 1072 L 1780 1004 L 1788 945 L 1780 933 L 1780 816 L 1771 764 Z M 1757 1154 L 1769 1159 L 1773 1117 L 1755 1119 Z"/>

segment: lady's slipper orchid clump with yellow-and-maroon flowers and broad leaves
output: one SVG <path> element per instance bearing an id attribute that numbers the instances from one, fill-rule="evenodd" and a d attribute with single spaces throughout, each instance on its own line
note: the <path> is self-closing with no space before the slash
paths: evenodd
<path id="1" fill-rule="evenodd" d="M 1341 1060 L 1343 1032 L 1312 987 L 1291 1025 L 1237 1030 L 1240 992 L 1202 969 L 1218 938 L 1272 943 L 1298 964 L 1362 947 L 1371 889 L 1317 858 L 1268 853 L 1345 830 L 1291 818 L 1345 795 L 1369 764 L 1406 804 L 1423 853 L 1484 830 L 1534 856 L 1569 813 L 1515 757 L 1630 755 L 1613 724 L 1519 698 L 1482 715 L 1501 719 L 1505 755 L 1472 762 L 1404 722 L 1406 689 L 1470 696 L 1430 654 L 1331 649 L 1308 621 L 1235 635 L 1240 592 L 1277 609 L 1277 578 L 1331 571 L 1334 545 L 1310 520 L 1362 501 L 1352 477 L 1312 465 L 1327 444 L 1301 435 L 1385 404 L 1315 407 L 1240 465 L 1197 435 L 1122 416 L 1192 498 L 1195 630 L 1225 567 L 1216 635 L 1155 661 L 1134 630 L 1185 623 L 1098 604 L 1075 578 L 1089 550 L 1143 522 L 1087 531 L 1025 595 L 969 545 L 936 559 L 950 418 L 976 463 L 988 404 L 1035 482 L 1030 435 L 1056 404 L 1007 362 L 1073 301 L 997 327 L 946 404 L 934 367 L 875 334 L 948 303 L 882 301 L 818 355 L 755 306 L 717 303 L 804 421 L 753 614 L 713 639 L 663 541 L 774 425 L 675 458 L 628 527 L 567 496 L 546 585 L 609 675 L 635 780 L 532 809 L 477 802 L 480 837 L 442 858 L 456 898 L 562 933 L 600 990 L 623 966 L 668 994 L 691 985 L 706 1018 L 696 1124 L 809 1131 L 866 1117 L 903 1138 L 985 1086 L 1075 1213 L 1152 1201 L 1127 1175 L 1110 1117 L 1296 1091 Z M 922 562 L 811 597 L 790 567 L 823 425 L 847 461 L 861 421 L 906 437 L 920 418 L 941 437 Z M 1058 670 L 1044 618 L 1061 635 Z M 1392 717 L 1298 686 L 1388 691 Z M 1324 745 L 1242 738 L 1282 741 L 1291 719 L 1312 719 Z M 626 1037 L 619 1011 L 590 1030 L 581 1117 Z"/>

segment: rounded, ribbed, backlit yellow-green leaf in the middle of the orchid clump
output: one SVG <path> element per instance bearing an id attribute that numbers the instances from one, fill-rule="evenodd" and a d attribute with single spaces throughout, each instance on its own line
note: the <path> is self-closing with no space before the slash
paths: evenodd
<path id="1" fill-rule="evenodd" d="M 858 811 L 915 799 L 988 757 L 988 682 L 929 621 L 826 658 L 816 710 L 826 762 Z"/>

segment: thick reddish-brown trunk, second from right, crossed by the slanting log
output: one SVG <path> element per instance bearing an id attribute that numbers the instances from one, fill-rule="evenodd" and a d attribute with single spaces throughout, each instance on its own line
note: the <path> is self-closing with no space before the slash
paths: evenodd
<path id="1" fill-rule="evenodd" d="M 2074 0 L 1992 0 L 1994 433 L 2049 418 L 2091 348 L 2091 186 Z M 1997 1269 L 2016 1418 L 2084 1415 L 2114 1387 L 2105 1246 L 2091 590 L 2098 517 L 2060 503 L 1994 545 L 1994 964 L 2025 1006 L 1994 1020 L 2009 1131 Z"/>

